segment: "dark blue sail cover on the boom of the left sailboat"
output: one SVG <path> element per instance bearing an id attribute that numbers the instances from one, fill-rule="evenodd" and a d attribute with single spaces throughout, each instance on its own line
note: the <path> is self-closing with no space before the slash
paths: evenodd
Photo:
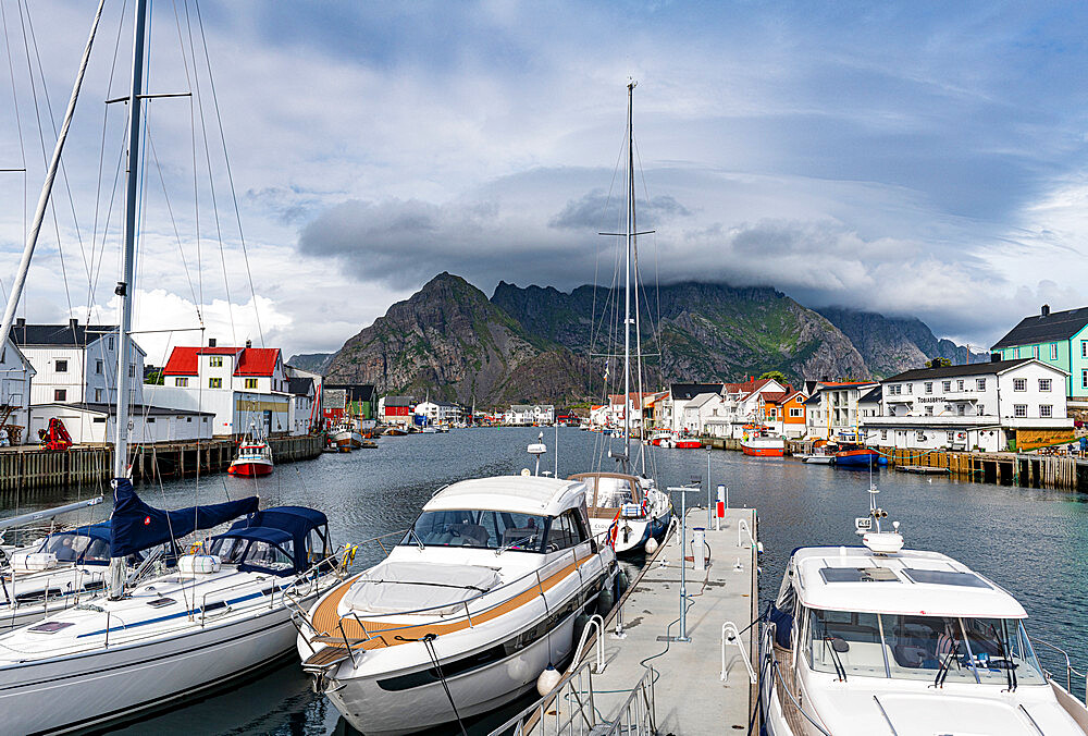
<path id="1" fill-rule="evenodd" d="M 211 529 L 238 516 L 257 511 L 259 499 L 250 495 L 238 501 L 162 511 L 149 506 L 133 490 L 127 478 L 114 481 L 110 554 L 124 557 L 171 539 L 181 539 L 196 529 Z"/>

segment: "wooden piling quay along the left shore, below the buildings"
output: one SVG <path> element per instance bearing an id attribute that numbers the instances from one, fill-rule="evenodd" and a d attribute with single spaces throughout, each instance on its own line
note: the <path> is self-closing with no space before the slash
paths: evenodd
<path id="1" fill-rule="evenodd" d="M 320 455 L 324 436 L 272 438 L 269 444 L 276 464 L 294 463 Z M 187 478 L 198 473 L 223 473 L 234 459 L 237 446 L 232 439 L 138 445 L 129 452 L 133 479 Z M 104 488 L 112 476 L 111 445 L 81 445 L 60 452 L 35 446 L 0 449 L 0 496 L 35 488 Z"/>

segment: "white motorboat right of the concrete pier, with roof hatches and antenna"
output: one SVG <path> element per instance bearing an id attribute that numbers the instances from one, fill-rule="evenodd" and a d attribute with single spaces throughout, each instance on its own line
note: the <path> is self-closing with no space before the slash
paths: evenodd
<path id="1" fill-rule="evenodd" d="M 1024 608 L 938 552 L 904 550 L 870 489 L 863 548 L 796 550 L 761 637 L 770 736 L 1088 733 L 1040 666 Z"/>

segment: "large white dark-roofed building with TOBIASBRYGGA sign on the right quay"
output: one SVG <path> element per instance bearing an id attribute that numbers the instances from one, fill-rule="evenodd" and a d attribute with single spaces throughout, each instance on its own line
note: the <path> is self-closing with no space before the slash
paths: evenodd
<path id="1" fill-rule="evenodd" d="M 1072 438 L 1065 371 L 1035 358 L 919 368 L 880 383 L 880 416 L 861 420 L 869 444 L 998 452 Z"/>

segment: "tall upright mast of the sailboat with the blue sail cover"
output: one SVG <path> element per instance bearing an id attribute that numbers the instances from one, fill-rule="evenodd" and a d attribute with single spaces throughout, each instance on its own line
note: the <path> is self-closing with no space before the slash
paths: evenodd
<path id="1" fill-rule="evenodd" d="M 128 476 L 128 369 L 132 352 L 133 283 L 136 254 L 136 209 L 139 185 L 139 113 L 144 91 L 144 27 L 147 22 L 147 0 L 136 0 L 133 22 L 133 78 L 128 93 L 128 184 L 125 197 L 124 249 L 121 270 L 123 281 L 115 291 L 121 297 L 121 322 L 118 327 L 118 414 L 116 440 L 113 445 L 113 484 Z M 124 562 L 110 557 L 110 598 L 124 593 Z"/>

